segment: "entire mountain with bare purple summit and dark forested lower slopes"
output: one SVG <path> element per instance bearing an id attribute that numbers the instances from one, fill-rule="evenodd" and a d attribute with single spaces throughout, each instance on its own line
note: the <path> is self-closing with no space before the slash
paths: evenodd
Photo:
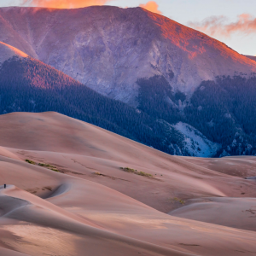
<path id="1" fill-rule="evenodd" d="M 0 113 L 57 111 L 168 154 L 256 154 L 256 63 L 223 43 L 141 8 L 0 16 L 3 54 L 31 56 L 3 62 Z"/>

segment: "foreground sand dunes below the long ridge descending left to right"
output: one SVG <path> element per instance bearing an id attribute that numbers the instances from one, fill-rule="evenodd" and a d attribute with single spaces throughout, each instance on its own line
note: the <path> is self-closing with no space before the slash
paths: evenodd
<path id="1" fill-rule="evenodd" d="M 0 190 L 7 234 L 1 241 L 22 253 L 239 255 L 237 247 L 256 249 L 252 232 L 171 217 L 100 184 L 19 160 L 1 157 L 0 166 L 1 176 L 16 185 Z M 42 198 L 32 195 L 34 187 Z"/>

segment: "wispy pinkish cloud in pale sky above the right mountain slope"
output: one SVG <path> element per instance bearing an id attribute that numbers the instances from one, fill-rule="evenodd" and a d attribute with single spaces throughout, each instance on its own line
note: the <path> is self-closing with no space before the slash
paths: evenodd
<path id="1" fill-rule="evenodd" d="M 230 38 L 235 32 L 249 35 L 256 32 L 256 18 L 252 15 L 242 14 L 237 16 L 236 22 L 230 22 L 224 16 L 212 16 L 201 22 L 189 22 L 189 26 L 209 34 Z"/>

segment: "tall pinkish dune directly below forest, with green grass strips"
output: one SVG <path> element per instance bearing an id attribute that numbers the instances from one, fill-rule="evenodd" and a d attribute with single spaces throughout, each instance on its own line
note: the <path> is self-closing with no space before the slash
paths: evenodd
<path id="1" fill-rule="evenodd" d="M 10 154 L 102 183 L 162 212 L 170 212 L 182 206 L 180 200 L 191 198 L 256 195 L 254 185 L 242 178 L 195 166 L 59 113 L 2 115 L 0 130 L 1 144 Z M 154 178 L 124 172 L 120 167 Z"/>

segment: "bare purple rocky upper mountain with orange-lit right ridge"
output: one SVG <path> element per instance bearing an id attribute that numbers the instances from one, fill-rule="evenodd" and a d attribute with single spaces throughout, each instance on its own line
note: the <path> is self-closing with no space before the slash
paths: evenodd
<path id="1" fill-rule="evenodd" d="M 137 105 L 137 79 L 163 75 L 191 93 L 202 80 L 256 63 L 221 42 L 145 9 L 0 9 L 0 40 L 92 89 Z"/>

